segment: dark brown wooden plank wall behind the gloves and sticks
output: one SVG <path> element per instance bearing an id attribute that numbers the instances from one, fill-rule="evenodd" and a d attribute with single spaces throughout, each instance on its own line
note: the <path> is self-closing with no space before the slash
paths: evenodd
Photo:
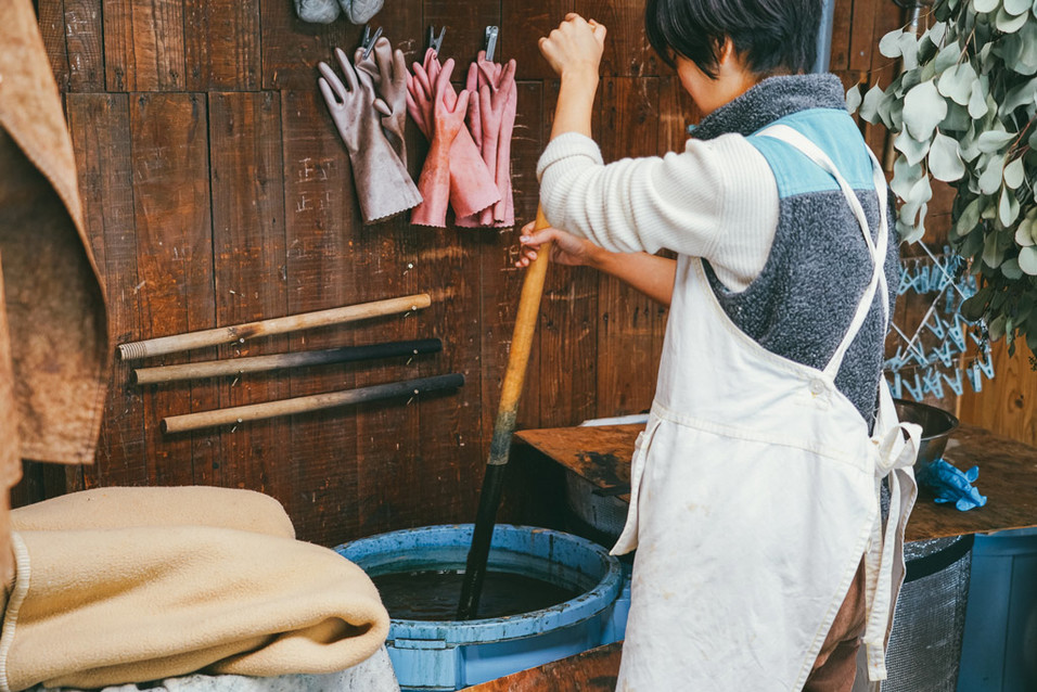
<path id="1" fill-rule="evenodd" d="M 299 22 L 291 0 L 39 0 L 65 94 L 88 230 L 118 342 L 427 292 L 433 307 L 169 356 L 152 364 L 438 336 L 439 355 L 182 385 L 137 387 L 115 362 L 97 463 L 29 467 L 15 501 L 104 485 L 213 484 L 267 492 L 300 538 L 335 544 L 474 516 L 517 304 L 511 230 L 363 227 L 348 157 L 316 89 L 316 64 L 361 27 Z M 568 11 L 609 27 L 596 128 L 606 158 L 682 146 L 697 114 L 648 47 L 638 0 L 393 0 L 375 17 L 419 59 L 428 25 L 443 54 L 474 57 L 486 25 L 518 61 L 516 216 L 536 208 L 535 166 L 558 81 L 536 39 Z M 875 46 L 899 26 L 891 0 L 837 0 L 832 69 L 845 84 L 895 69 Z M 866 128 L 881 151 L 883 133 Z M 409 132 L 412 172 L 424 152 Z M 524 427 L 645 410 L 666 315 L 615 281 L 552 268 Z M 114 358 L 113 358 L 114 360 Z M 420 401 L 298 415 L 179 437 L 172 413 L 462 372 Z"/>

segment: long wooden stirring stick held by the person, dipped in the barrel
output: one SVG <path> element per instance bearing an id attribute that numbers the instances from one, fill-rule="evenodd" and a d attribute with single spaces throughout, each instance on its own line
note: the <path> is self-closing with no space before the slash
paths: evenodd
<path id="1" fill-rule="evenodd" d="M 537 221 L 534 232 L 550 226 L 543 213 L 537 208 Z M 540 297 L 543 294 L 543 281 L 548 272 L 550 243 L 541 245 L 537 258 L 526 269 L 522 282 L 522 295 L 518 297 L 518 315 L 511 336 L 511 351 L 508 354 L 508 370 L 500 390 L 500 406 L 494 422 L 494 437 L 490 441 L 489 459 L 486 461 L 486 474 L 483 476 L 483 489 L 479 492 L 478 510 L 475 514 L 475 530 L 472 534 L 472 547 L 469 549 L 468 564 L 464 568 L 464 582 L 461 585 L 461 602 L 458 604 L 458 619 L 475 617 L 483 579 L 486 576 L 486 561 L 489 558 L 489 543 L 494 536 L 494 523 L 500 505 L 503 488 L 504 466 L 511 451 L 511 438 L 515 434 L 515 421 L 518 418 L 518 398 L 526 381 L 529 364 L 529 351 L 533 348 L 533 334 L 540 313 Z"/>

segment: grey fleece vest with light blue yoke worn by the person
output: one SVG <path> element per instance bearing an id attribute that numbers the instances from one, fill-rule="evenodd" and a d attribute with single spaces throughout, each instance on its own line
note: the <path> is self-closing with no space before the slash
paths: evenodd
<path id="1" fill-rule="evenodd" d="M 692 132 L 703 140 L 728 132 L 744 134 L 767 159 L 778 182 L 778 229 L 760 274 L 745 291 L 735 293 L 717 279 L 708 262 L 706 273 L 739 329 L 771 353 L 821 369 L 838 347 L 871 279 L 871 256 L 834 178 L 789 144 L 754 136 L 779 121 L 805 134 L 832 158 L 856 191 L 872 235 L 878 234 L 871 161 L 846 112 L 840 80 L 833 75 L 771 77 L 703 118 Z M 876 296 L 835 377 L 835 386 L 869 427 L 874 421 L 886 333 L 879 300 L 888 299 L 892 316 L 899 282 L 892 203 L 886 213 L 889 293 Z"/>

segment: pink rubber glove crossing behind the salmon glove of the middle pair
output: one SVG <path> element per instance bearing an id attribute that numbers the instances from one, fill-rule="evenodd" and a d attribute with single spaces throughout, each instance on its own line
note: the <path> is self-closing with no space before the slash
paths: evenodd
<path id="1" fill-rule="evenodd" d="M 414 63 L 413 75 L 407 79 L 407 110 L 426 139 L 434 133 L 434 85 L 440 74 L 435 51 L 425 53 L 425 65 Z M 456 108 L 457 94 L 452 85 L 444 90 L 444 104 Z M 492 174 L 479 154 L 466 129 L 458 132 L 450 150 L 450 205 L 459 217 L 470 216 L 500 201 Z"/>

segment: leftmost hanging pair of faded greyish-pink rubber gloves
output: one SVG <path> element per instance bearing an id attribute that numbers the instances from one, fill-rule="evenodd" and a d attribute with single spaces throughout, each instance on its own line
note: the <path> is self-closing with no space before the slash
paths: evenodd
<path id="1" fill-rule="evenodd" d="M 375 41 L 367 56 L 363 52 L 358 49 L 350 63 L 336 48 L 345 85 L 323 62 L 317 81 L 349 152 L 363 222 L 373 223 L 418 206 L 422 197 L 407 172 L 404 53 L 393 51 L 386 38 Z"/>

